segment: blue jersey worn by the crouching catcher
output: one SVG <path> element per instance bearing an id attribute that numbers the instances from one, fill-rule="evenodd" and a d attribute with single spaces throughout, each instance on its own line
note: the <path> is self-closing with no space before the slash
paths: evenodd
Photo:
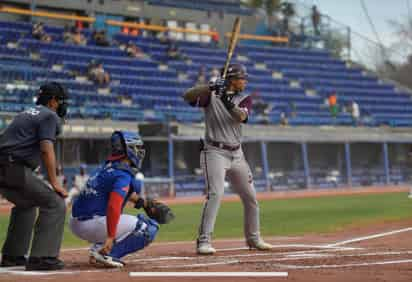
<path id="1" fill-rule="evenodd" d="M 108 161 L 87 181 L 86 187 L 74 201 L 72 216 L 106 216 L 111 192 L 116 192 L 123 197 L 124 206 L 130 194 L 132 192 L 139 194 L 140 189 L 141 181 L 134 178 L 127 165 Z"/>

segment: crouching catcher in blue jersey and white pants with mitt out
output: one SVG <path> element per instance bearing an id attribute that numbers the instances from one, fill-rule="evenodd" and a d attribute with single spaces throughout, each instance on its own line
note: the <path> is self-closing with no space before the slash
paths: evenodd
<path id="1" fill-rule="evenodd" d="M 145 156 L 140 136 L 115 131 L 110 141 L 111 156 L 74 201 L 69 225 L 76 236 L 93 243 L 90 263 L 119 268 L 125 265 L 122 257 L 149 245 L 159 224 L 174 215 L 165 204 L 139 197 L 141 182 L 135 175 Z M 127 201 L 144 208 L 149 217 L 122 214 Z"/>

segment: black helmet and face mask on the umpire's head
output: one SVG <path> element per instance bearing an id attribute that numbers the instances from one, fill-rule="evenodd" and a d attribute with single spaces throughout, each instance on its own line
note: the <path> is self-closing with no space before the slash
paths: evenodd
<path id="1" fill-rule="evenodd" d="M 48 82 L 40 86 L 37 92 L 36 105 L 46 106 L 50 99 L 56 98 L 59 106 L 56 113 L 59 117 L 63 118 L 67 114 L 67 90 L 57 82 Z"/>

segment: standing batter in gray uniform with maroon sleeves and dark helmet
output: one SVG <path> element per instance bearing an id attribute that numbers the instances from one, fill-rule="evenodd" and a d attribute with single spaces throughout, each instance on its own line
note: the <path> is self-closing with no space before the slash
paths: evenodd
<path id="1" fill-rule="evenodd" d="M 243 203 L 246 244 L 259 250 L 272 247 L 259 234 L 256 191 L 241 147 L 241 124 L 247 122 L 252 104 L 250 96 L 240 94 L 246 86 L 246 79 L 246 68 L 233 64 L 228 68 L 226 80 L 219 78 L 209 86 L 191 88 L 183 95 L 191 106 L 204 108 L 206 123 L 200 165 L 205 176 L 207 197 L 197 238 L 198 254 L 216 252 L 211 245 L 211 237 L 226 176 Z"/>

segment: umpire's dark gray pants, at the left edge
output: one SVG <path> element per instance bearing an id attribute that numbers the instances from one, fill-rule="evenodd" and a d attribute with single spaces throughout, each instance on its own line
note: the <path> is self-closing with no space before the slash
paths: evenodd
<path id="1" fill-rule="evenodd" d="M 2 253 L 9 256 L 58 257 L 64 231 L 64 200 L 30 168 L 0 164 L 0 194 L 12 208 Z M 38 216 L 37 216 L 38 214 Z"/>

